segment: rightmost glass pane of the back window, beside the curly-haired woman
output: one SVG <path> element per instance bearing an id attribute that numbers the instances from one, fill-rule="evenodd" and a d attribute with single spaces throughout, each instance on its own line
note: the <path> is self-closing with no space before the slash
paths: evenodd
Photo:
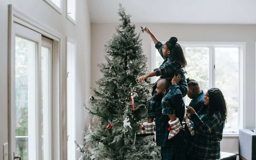
<path id="1" fill-rule="evenodd" d="M 221 90 L 228 107 L 225 129 L 238 129 L 239 49 L 215 48 L 216 87 Z"/>

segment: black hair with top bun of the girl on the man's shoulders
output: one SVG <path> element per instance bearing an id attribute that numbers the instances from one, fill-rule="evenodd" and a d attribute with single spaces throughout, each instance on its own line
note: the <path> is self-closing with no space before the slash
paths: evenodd
<path id="1" fill-rule="evenodd" d="M 171 37 L 169 41 L 165 43 L 167 49 L 172 53 L 169 57 L 171 60 L 180 64 L 181 68 L 187 66 L 187 61 L 185 59 L 183 50 L 180 44 L 177 43 L 178 39 L 176 37 Z"/>

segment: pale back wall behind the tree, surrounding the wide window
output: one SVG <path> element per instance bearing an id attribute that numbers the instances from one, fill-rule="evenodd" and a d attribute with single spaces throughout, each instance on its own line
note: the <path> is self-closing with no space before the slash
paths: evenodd
<path id="1" fill-rule="evenodd" d="M 97 88 L 95 80 L 102 74 L 98 63 L 106 62 L 103 55 L 104 44 L 115 33 L 117 24 L 92 23 L 92 87 Z M 140 26 L 147 26 L 160 41 L 166 41 L 176 36 L 179 41 L 197 42 L 246 42 L 246 128 L 255 127 L 255 47 L 256 25 L 191 25 L 191 24 L 135 24 L 138 33 Z M 141 33 L 142 49 L 148 57 L 148 70 L 151 68 L 151 38 L 147 33 Z M 221 150 L 238 153 L 238 137 L 223 137 Z"/>

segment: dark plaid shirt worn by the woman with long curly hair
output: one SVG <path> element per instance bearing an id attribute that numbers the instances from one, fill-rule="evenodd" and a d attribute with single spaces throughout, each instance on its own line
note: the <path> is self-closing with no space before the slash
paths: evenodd
<path id="1" fill-rule="evenodd" d="M 199 159 L 219 159 L 224 128 L 220 112 L 210 115 L 207 107 L 203 107 L 191 116 L 191 120 L 195 125 L 195 136 L 189 154 L 193 152 L 193 156 Z"/>

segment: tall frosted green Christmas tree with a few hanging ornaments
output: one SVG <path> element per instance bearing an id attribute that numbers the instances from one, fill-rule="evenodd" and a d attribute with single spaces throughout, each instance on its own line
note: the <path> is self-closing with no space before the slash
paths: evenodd
<path id="1" fill-rule="evenodd" d="M 152 136 L 135 138 L 146 118 L 151 86 L 137 83 L 147 74 L 147 58 L 131 16 L 119 6 L 122 23 L 105 45 L 107 63 L 98 65 L 103 77 L 96 82 L 98 90 L 93 89 L 95 100 L 89 100 L 91 107 L 84 105 L 97 122 L 84 132 L 83 144 L 76 145 L 83 153 L 80 159 L 159 159 Z"/>

